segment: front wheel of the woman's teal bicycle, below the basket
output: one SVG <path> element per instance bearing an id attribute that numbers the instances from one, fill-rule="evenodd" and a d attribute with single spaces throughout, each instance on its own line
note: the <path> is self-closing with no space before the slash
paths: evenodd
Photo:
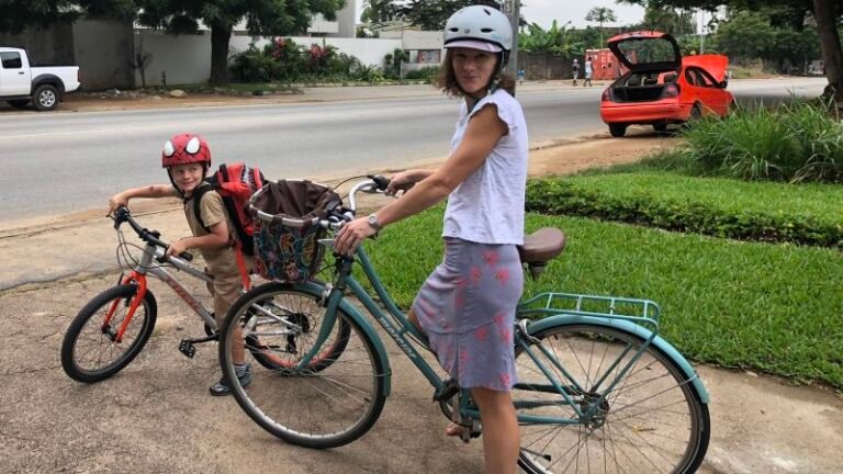
<path id="1" fill-rule="evenodd" d="M 223 324 L 220 363 L 240 408 L 273 436 L 306 448 L 336 448 L 363 436 L 383 409 L 382 361 L 361 327 L 338 309 L 316 356 L 325 324 L 319 292 L 267 283 L 243 295 Z M 240 329 L 243 338 L 235 338 Z M 252 364 L 248 391 L 235 376 L 233 349 L 245 341 Z M 302 366 L 300 366 L 302 365 Z"/>

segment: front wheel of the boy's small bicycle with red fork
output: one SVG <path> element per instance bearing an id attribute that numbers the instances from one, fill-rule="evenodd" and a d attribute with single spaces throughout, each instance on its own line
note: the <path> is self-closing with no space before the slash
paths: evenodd
<path id="1" fill-rule="evenodd" d="M 61 366 L 70 379 L 100 382 L 123 370 L 137 357 L 155 328 L 157 304 L 150 291 L 146 291 L 137 306 L 123 339 L 115 340 L 136 295 L 136 285 L 113 286 L 79 311 L 61 342 Z"/>

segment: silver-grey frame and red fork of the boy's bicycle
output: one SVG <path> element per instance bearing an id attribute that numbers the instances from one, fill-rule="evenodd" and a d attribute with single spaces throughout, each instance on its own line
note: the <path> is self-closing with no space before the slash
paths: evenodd
<path id="1" fill-rule="evenodd" d="M 126 314 L 125 319 L 123 320 L 123 324 L 120 326 L 120 329 L 117 329 L 117 332 L 114 337 L 114 340 L 116 342 L 123 341 L 123 334 L 126 331 L 126 328 L 128 327 L 128 324 L 132 321 L 132 317 L 135 315 L 135 311 L 140 305 L 140 302 L 144 301 L 144 296 L 146 295 L 147 291 L 147 284 L 146 284 L 146 275 L 151 274 L 153 276 L 156 276 L 158 280 L 167 283 L 168 286 L 172 289 L 173 292 L 176 292 L 177 295 L 179 295 L 180 298 L 184 301 L 184 303 L 190 306 L 191 309 L 193 309 L 204 321 L 205 324 L 211 327 L 212 329 L 216 330 L 216 320 L 214 320 L 214 317 L 211 315 L 211 312 L 202 305 L 202 303 L 196 300 L 178 280 L 176 280 L 170 272 L 165 270 L 164 268 L 154 264 L 153 259 L 164 259 L 165 258 L 165 250 L 160 247 L 157 247 L 151 244 L 147 244 L 144 247 L 143 255 L 140 256 L 140 261 L 135 266 L 135 268 L 125 276 L 122 279 L 122 284 L 137 284 L 137 295 L 132 301 L 132 305 L 128 308 L 128 313 Z M 202 280 L 204 282 L 212 282 L 213 278 L 209 274 L 205 274 L 205 272 L 198 270 L 196 268 L 192 267 L 184 260 L 178 258 L 178 257 L 167 257 L 166 258 L 169 263 L 171 263 L 176 269 L 183 271 L 188 274 L 190 274 L 193 278 L 196 278 L 199 280 Z M 103 328 L 109 327 L 109 323 L 111 321 L 111 318 L 114 316 L 114 313 L 117 308 L 119 301 L 115 301 L 112 303 L 111 307 L 109 308 L 109 313 L 105 315 L 105 319 L 103 320 L 102 325 Z"/>

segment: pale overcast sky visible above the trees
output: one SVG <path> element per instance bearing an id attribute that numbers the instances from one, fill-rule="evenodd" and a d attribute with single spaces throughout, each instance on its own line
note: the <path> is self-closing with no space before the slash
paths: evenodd
<path id="1" fill-rule="evenodd" d="M 558 20 L 560 25 L 571 21 L 575 27 L 585 27 L 588 22 L 585 15 L 588 10 L 595 7 L 606 7 L 615 12 L 618 18 L 616 25 L 626 25 L 637 23 L 643 20 L 644 9 L 641 7 L 631 7 L 627 4 L 617 4 L 615 0 L 521 0 L 521 16 L 529 23 L 538 23 L 548 29 L 553 20 Z M 363 12 L 362 0 L 357 0 L 358 15 Z"/>

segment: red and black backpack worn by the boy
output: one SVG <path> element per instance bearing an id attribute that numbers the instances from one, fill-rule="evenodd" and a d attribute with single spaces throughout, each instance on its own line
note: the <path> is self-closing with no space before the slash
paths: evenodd
<path id="1" fill-rule="evenodd" d="M 232 217 L 243 252 L 254 256 L 255 242 L 251 236 L 255 233 L 255 223 L 245 208 L 249 198 L 262 187 L 263 173 L 258 167 L 250 168 L 243 162 L 220 165 L 220 169 L 205 178 L 205 182 L 196 189 L 193 196 L 193 214 L 199 224 L 210 233 L 211 229 L 202 222 L 199 204 L 206 192 L 216 191 L 223 198 L 225 210 Z"/>

